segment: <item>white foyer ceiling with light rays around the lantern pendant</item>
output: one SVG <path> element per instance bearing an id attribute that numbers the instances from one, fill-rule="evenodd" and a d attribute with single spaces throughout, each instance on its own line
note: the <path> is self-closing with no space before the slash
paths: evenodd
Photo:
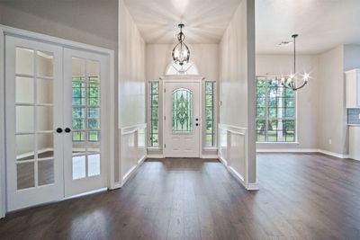
<path id="1" fill-rule="evenodd" d="M 241 0 L 124 0 L 148 43 L 174 43 L 184 22 L 185 42 L 218 43 Z"/>

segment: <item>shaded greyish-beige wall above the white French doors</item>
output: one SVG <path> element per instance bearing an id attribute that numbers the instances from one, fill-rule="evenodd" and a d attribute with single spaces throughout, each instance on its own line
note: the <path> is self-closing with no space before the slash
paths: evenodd
<path id="1" fill-rule="evenodd" d="M 7 26 L 117 49 L 117 0 L 2 0 L 0 11 Z"/>

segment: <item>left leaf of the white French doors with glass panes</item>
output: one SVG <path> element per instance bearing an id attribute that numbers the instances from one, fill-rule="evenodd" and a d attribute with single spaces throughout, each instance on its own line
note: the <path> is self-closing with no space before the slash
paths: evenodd
<path id="1" fill-rule="evenodd" d="M 7 210 L 63 198 L 62 48 L 5 37 Z"/>

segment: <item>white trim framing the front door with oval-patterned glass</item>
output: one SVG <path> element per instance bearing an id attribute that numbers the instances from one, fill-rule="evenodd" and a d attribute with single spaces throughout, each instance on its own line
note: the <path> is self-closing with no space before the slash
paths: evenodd
<path id="1" fill-rule="evenodd" d="M 165 155 L 165 139 L 166 139 L 166 123 L 164 122 L 164 118 L 165 118 L 165 114 L 166 114 L 166 105 L 165 105 L 165 88 L 166 88 L 166 83 L 199 83 L 200 84 L 200 96 L 199 96 L 199 100 L 200 100 L 200 114 L 199 114 L 199 122 L 201 124 L 201 128 L 202 128 L 202 80 L 205 79 L 203 76 L 191 76 L 191 75 L 175 75 L 175 76 L 162 76 L 160 77 L 160 80 L 162 82 L 162 86 L 161 86 L 161 91 L 162 94 L 164 95 L 164 97 L 162 98 L 162 116 L 161 116 L 161 120 L 163 120 L 163 124 L 162 124 L 162 148 L 163 148 L 163 156 Z M 202 156 L 202 130 L 199 131 L 199 157 Z M 159 146 L 160 147 L 160 146 Z"/>

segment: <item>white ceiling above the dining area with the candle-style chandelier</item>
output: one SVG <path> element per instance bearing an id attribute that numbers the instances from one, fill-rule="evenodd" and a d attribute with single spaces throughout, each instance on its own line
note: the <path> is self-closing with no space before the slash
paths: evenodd
<path id="1" fill-rule="evenodd" d="M 288 53 L 278 47 L 299 33 L 296 49 L 320 53 L 342 43 L 360 43 L 360 0 L 256 0 L 258 53 Z"/>

